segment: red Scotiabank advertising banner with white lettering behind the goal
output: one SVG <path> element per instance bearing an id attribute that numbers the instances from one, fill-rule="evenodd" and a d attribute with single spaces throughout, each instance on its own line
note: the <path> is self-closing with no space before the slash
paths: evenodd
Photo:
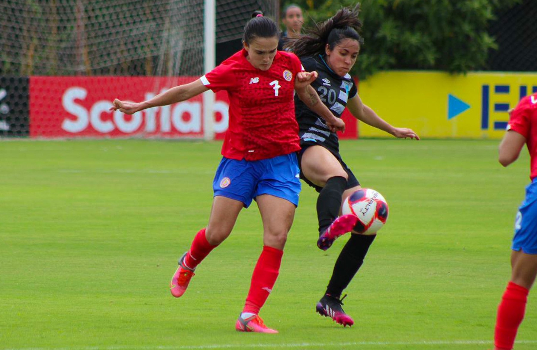
<path id="1" fill-rule="evenodd" d="M 30 77 L 30 137 L 202 138 L 202 95 L 171 106 L 133 115 L 110 111 L 112 101 L 143 101 L 190 83 L 198 77 Z M 228 128 L 229 99 L 216 93 L 213 129 L 222 139 Z M 344 115 L 347 130 L 340 138 L 356 138 L 357 123 Z"/>

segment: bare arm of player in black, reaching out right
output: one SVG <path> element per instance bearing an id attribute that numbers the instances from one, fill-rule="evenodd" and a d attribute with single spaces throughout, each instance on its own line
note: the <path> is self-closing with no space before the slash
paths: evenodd
<path id="1" fill-rule="evenodd" d="M 419 140 L 418 134 L 412 129 L 395 128 L 394 126 L 391 126 L 388 122 L 384 121 L 375 113 L 373 109 L 364 105 L 364 102 L 362 102 L 358 94 L 349 99 L 349 102 L 347 102 L 347 107 L 355 118 L 366 123 L 367 125 L 371 125 L 374 128 L 386 131 L 387 133 L 398 138 L 410 137 Z"/>

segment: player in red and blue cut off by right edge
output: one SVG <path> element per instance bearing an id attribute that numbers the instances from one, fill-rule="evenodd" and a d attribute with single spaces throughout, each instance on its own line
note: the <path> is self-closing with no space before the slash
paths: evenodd
<path id="1" fill-rule="evenodd" d="M 495 350 L 513 348 L 537 274 L 537 93 L 526 96 L 510 111 L 507 131 L 499 145 L 499 162 L 506 167 L 516 161 L 524 144 L 529 151 L 531 183 L 514 221 L 511 279 L 498 307 Z"/>

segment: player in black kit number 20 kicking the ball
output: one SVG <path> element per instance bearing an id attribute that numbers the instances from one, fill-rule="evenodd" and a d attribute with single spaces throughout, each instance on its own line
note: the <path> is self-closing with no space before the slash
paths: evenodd
<path id="1" fill-rule="evenodd" d="M 306 35 L 291 39 L 287 44 L 299 56 L 306 71 L 317 71 L 317 79 L 311 83 L 323 103 L 340 117 L 345 109 L 358 120 L 386 131 L 398 138 L 419 139 L 407 128 L 395 128 L 382 120 L 375 111 L 364 105 L 358 95 L 349 71 L 356 62 L 363 43 L 358 34 L 362 24 L 358 18 L 359 5 L 342 8 L 324 23 L 309 29 Z M 354 324 L 345 314 L 340 299 L 364 261 L 375 235 L 361 235 L 352 228 L 356 219 L 340 214 L 343 198 L 358 190 L 360 183 L 339 155 L 339 140 L 323 119 L 295 97 L 295 114 L 300 127 L 299 155 L 302 180 L 319 192 L 317 217 L 319 248 L 326 250 L 332 242 L 346 232 L 352 232 L 333 268 L 324 296 L 316 305 L 316 311 L 343 326 Z M 337 232 L 333 232 L 336 228 Z M 332 232 L 331 232 L 332 231 Z"/>

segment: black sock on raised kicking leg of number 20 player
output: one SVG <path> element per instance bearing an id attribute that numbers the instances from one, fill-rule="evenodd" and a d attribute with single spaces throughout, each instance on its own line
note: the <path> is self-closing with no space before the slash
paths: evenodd
<path id="1" fill-rule="evenodd" d="M 341 207 L 341 197 L 347 180 L 342 176 L 330 177 L 326 181 L 325 187 L 317 197 L 317 219 L 319 220 L 319 232 L 323 232 L 339 214 Z"/>

